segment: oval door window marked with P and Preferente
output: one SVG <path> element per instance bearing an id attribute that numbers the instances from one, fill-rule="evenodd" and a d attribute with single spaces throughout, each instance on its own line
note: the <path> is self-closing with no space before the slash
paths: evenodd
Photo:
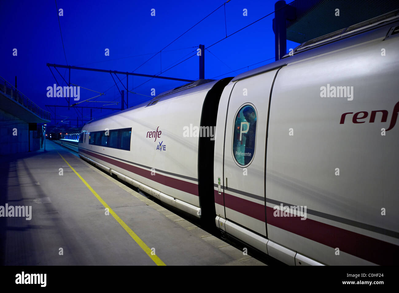
<path id="1" fill-rule="evenodd" d="M 251 163 L 255 155 L 256 122 L 256 111 L 250 105 L 243 106 L 235 118 L 233 157 L 241 166 Z"/>

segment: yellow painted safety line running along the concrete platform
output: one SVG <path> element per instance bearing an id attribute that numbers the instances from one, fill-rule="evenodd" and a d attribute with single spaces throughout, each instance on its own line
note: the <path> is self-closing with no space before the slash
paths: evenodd
<path id="1" fill-rule="evenodd" d="M 133 230 L 130 229 L 130 227 L 128 225 L 126 225 L 126 223 L 123 222 L 121 218 L 119 218 L 119 216 L 112 210 L 112 208 L 110 208 L 109 205 L 107 205 L 107 203 L 97 194 L 97 192 L 95 192 L 95 190 L 93 188 L 91 188 L 89 183 L 87 183 L 86 180 L 83 179 L 83 177 L 79 173 L 77 173 L 71 165 L 69 165 L 67 160 L 65 160 L 64 157 L 58 151 L 57 151 L 57 153 L 61 156 L 61 158 L 65 161 L 65 163 L 68 164 L 68 166 L 72 169 L 72 171 L 75 172 L 77 177 L 79 177 L 80 180 L 83 183 L 85 183 L 86 187 L 95 195 L 95 197 L 97 197 L 97 199 L 100 201 L 100 203 L 102 203 L 103 206 L 105 206 L 106 208 L 109 209 L 109 212 L 112 214 L 112 216 L 115 218 L 115 220 L 117 220 L 117 222 L 120 224 L 120 226 L 122 226 L 126 230 L 126 232 L 128 232 L 128 234 L 133 238 L 133 240 L 136 241 L 136 243 L 154 261 L 154 263 L 156 265 L 166 265 L 164 262 L 162 262 L 162 260 L 160 258 L 158 258 L 158 256 L 151 254 L 152 250 L 140 239 L 140 237 L 138 237 L 137 234 L 134 233 Z"/>

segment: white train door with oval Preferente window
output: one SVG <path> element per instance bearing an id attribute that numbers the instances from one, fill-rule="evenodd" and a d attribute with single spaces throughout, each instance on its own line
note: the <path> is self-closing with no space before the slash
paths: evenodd
<path id="1" fill-rule="evenodd" d="M 267 252 L 265 147 L 276 70 L 235 84 L 227 109 L 223 187 L 225 230 Z"/>

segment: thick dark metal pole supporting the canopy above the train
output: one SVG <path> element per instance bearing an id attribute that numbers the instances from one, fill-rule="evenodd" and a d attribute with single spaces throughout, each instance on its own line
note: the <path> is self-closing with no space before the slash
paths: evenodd
<path id="1" fill-rule="evenodd" d="M 287 51 L 287 30 L 284 0 L 275 3 L 275 60 L 280 60 Z"/>

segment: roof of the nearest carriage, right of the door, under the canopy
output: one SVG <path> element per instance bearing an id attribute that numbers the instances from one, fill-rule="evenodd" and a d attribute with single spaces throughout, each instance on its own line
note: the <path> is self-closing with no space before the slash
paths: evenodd
<path id="1" fill-rule="evenodd" d="M 269 63 L 262 67 L 252 69 L 250 71 L 241 73 L 232 79 L 232 82 L 239 81 L 254 75 L 258 75 L 273 69 L 285 66 L 289 63 L 356 45 L 371 39 L 383 37 L 387 35 L 387 31 L 383 26 L 389 23 L 393 23 L 399 19 L 399 9 L 383 14 L 381 16 L 371 18 L 365 22 L 354 24 L 348 28 L 343 28 L 327 35 L 317 37 L 315 39 L 306 41 L 300 44 L 293 50 L 293 55 L 289 53 L 284 55 L 282 59 Z M 382 29 L 377 29 L 382 28 Z M 394 29 L 396 33 L 399 33 L 397 29 Z M 391 33 L 391 32 L 390 32 Z M 357 37 L 354 37 L 357 36 Z"/>

